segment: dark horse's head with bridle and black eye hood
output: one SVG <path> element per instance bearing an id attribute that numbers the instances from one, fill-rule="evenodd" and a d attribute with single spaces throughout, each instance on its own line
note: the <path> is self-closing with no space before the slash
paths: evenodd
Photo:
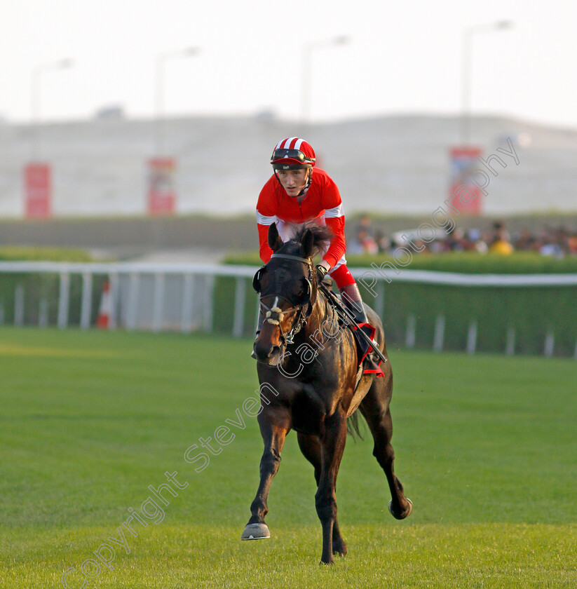
<path id="1" fill-rule="evenodd" d="M 330 231 L 318 225 L 304 226 L 283 243 L 276 224 L 269 228 L 273 255 L 257 271 L 252 281 L 259 293 L 263 323 L 254 341 L 259 362 L 277 365 L 287 344 L 311 315 L 317 295 L 316 272 L 312 258 L 330 239 Z"/>

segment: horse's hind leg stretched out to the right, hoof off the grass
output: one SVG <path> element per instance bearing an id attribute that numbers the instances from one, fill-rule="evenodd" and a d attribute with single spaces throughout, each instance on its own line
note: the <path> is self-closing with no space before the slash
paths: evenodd
<path id="1" fill-rule="evenodd" d="M 385 381 L 386 380 L 386 381 Z M 391 445 L 393 421 L 388 403 L 391 399 L 391 379 L 374 379 L 369 392 L 360 404 L 360 411 L 365 416 L 374 440 L 373 456 L 385 471 L 388 486 L 391 489 L 389 510 L 398 520 L 411 515 L 413 504 L 405 497 L 400 480 L 395 475 L 393 463 L 395 452 Z"/>

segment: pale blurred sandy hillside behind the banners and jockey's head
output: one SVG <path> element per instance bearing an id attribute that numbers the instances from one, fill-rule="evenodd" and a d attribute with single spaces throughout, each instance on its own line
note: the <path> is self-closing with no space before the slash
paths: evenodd
<path id="1" fill-rule="evenodd" d="M 22 170 L 37 131 L 41 158 L 53 168 L 55 217 L 144 215 L 154 121 L 105 117 L 30 126 L 0 124 L 0 215 L 22 217 Z M 307 125 L 263 117 L 166 121 L 166 151 L 176 158 L 177 213 L 252 213 L 270 173 L 278 137 L 313 142 L 320 166 L 339 184 L 347 214 L 429 214 L 447 198 L 449 149 L 459 118 L 386 116 Z M 484 198 L 487 215 L 577 211 L 577 130 L 516 119 L 475 117 L 473 142 L 485 155 L 507 146 Z"/>

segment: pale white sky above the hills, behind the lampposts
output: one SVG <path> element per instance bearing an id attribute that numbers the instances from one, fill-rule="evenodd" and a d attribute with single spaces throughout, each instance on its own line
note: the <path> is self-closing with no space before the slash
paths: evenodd
<path id="1" fill-rule="evenodd" d="M 473 112 L 577 128 L 575 0 L 1 0 L 0 117 L 28 122 L 32 70 L 62 58 L 41 74 L 42 121 L 154 116 L 156 57 L 199 46 L 166 62 L 168 115 L 297 119 L 304 48 L 340 35 L 311 52 L 312 121 L 455 114 L 463 30 L 500 20 L 473 36 Z"/>

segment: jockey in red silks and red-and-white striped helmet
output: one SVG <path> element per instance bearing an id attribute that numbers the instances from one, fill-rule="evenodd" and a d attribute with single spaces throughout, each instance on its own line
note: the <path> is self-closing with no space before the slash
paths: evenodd
<path id="1" fill-rule="evenodd" d="M 273 175 L 264 184 L 257 202 L 257 227 L 259 231 L 260 257 L 269 262 L 273 251 L 269 247 L 269 226 L 276 223 L 283 241 L 289 241 L 299 225 L 315 222 L 326 225 L 333 233 L 323 259 L 316 266 L 319 282 L 326 273 L 337 283 L 341 299 L 351 311 L 359 327 L 372 338 L 374 327 L 367 321 L 355 279 L 346 267 L 345 218 L 341 195 L 337 184 L 325 170 L 315 168 L 315 151 L 299 137 L 289 137 L 278 142 L 271 156 Z M 259 316 L 257 330 L 262 318 Z M 257 331 L 258 334 L 258 331 Z M 369 356 L 369 344 L 360 339 L 361 353 L 365 358 L 365 373 L 383 373 Z"/>

